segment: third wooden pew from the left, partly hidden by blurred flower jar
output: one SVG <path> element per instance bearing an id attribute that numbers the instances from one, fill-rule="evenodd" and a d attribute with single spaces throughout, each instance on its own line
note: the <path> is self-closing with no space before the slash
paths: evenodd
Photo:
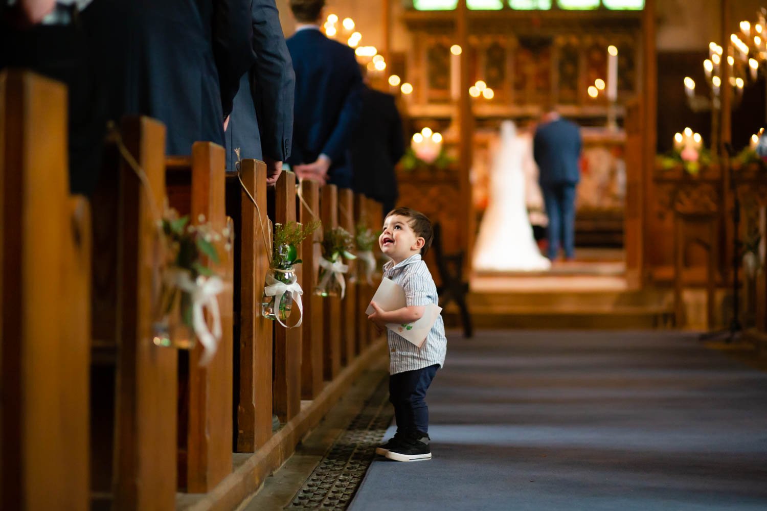
<path id="1" fill-rule="evenodd" d="M 225 153 L 212 142 L 195 142 L 192 156 L 166 159 L 168 200 L 180 215 L 216 231 L 225 216 Z M 216 356 L 201 367 L 202 346 L 179 351 L 179 487 L 189 493 L 212 490 L 232 471 L 232 274 L 231 252 L 211 267 L 227 276 L 230 289 L 219 294 L 223 336 Z"/>

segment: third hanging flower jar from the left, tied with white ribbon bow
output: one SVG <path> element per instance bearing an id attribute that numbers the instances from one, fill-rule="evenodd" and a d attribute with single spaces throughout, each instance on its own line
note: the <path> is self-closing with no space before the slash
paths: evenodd
<path id="1" fill-rule="evenodd" d="M 325 231 L 320 243 L 322 257 L 320 257 L 318 284 L 314 288 L 314 294 L 341 295 L 343 298 L 346 293 L 344 274 L 349 270 L 349 267 L 344 264 L 344 257 L 347 260 L 357 259 L 357 256 L 351 253 L 354 251 L 354 237 L 346 229 L 337 227 Z"/>

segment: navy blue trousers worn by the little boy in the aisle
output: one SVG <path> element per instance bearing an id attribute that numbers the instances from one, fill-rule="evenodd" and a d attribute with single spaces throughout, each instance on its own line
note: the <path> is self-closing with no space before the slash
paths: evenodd
<path id="1" fill-rule="evenodd" d="M 389 376 L 389 401 L 394 405 L 397 432 L 429 432 L 429 407 L 426 391 L 429 389 L 439 364 L 414 371 L 398 372 Z"/>

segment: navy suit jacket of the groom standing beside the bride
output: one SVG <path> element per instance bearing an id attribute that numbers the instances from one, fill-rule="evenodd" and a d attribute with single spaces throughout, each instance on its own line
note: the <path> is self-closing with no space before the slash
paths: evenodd
<path id="1" fill-rule="evenodd" d="M 533 156 L 541 186 L 575 185 L 581 179 L 581 129 L 561 117 L 535 129 Z"/>

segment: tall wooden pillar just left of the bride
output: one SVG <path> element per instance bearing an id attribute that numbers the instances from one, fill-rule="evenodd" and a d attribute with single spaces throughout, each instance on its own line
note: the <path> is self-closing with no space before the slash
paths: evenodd
<path id="1" fill-rule="evenodd" d="M 470 48 L 469 48 L 469 8 L 466 0 L 459 0 L 455 11 L 456 16 L 456 39 L 457 44 L 463 49 L 460 55 L 461 80 L 458 97 L 459 126 L 459 172 L 460 172 L 460 215 L 463 216 L 463 228 L 459 229 L 459 246 L 466 250 L 466 254 L 472 254 L 474 244 L 475 218 L 472 208 L 472 187 L 469 181 L 469 172 L 472 168 L 472 149 L 474 144 L 474 114 L 472 113 L 472 98 L 469 96 L 470 73 Z M 465 257 L 466 270 L 471 267 L 471 257 Z"/>

